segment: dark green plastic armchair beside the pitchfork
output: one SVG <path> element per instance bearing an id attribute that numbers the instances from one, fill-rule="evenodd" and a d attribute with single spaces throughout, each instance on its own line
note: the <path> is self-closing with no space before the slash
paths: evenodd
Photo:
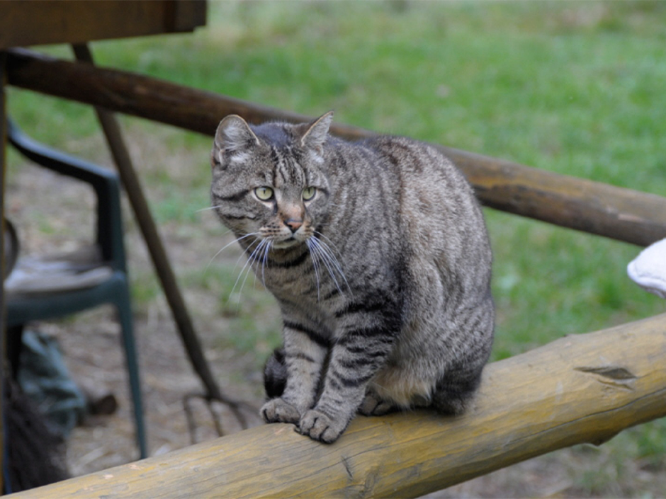
<path id="1" fill-rule="evenodd" d="M 8 331 L 20 332 L 28 321 L 54 319 L 101 304 L 113 304 L 122 331 L 137 444 L 141 459 L 147 457 L 118 177 L 105 168 L 35 142 L 12 122 L 8 122 L 8 138 L 23 156 L 52 171 L 88 183 L 97 197 L 97 234 L 92 248 L 76 255 L 42 260 L 18 258 L 13 273 L 5 281 Z M 16 345 L 16 334 L 10 334 L 9 343 Z"/>

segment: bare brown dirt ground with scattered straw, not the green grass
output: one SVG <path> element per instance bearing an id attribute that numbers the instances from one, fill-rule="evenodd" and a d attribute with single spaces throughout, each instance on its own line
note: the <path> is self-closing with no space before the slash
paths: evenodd
<path id="1" fill-rule="evenodd" d="M 7 214 L 21 230 L 23 251 L 38 253 L 43 248 L 67 249 L 67 241 L 72 236 L 74 239 L 79 237 L 79 227 L 91 226 L 92 197 L 87 193 L 81 194 L 69 181 L 26 166 L 13 171 L 9 179 Z M 148 195 L 149 198 L 159 197 L 159 192 L 149 192 Z M 56 206 L 63 207 L 62 211 L 60 208 L 55 210 Z M 124 210 L 130 272 L 140 280 L 154 279 L 145 246 L 132 222 L 127 204 Z M 71 211 L 74 214 L 65 214 Z M 47 220 L 40 214 L 43 212 L 55 212 L 57 216 Z M 222 233 L 210 212 L 203 214 L 200 220 L 197 224 L 167 223 L 160 227 L 165 246 L 179 271 L 205 266 L 226 241 L 209 237 L 210 234 Z M 220 258 L 235 261 L 239 254 L 235 249 L 225 251 L 215 261 L 219 262 Z M 222 390 L 228 396 L 254 406 L 252 411 L 247 411 L 247 418 L 252 425 L 261 424 L 256 415 L 256 408 L 262 401 L 261 374 L 254 356 L 218 341 L 220 335 L 225 334 L 227 322 L 216 312 L 217 297 L 198 287 L 184 286 L 183 290 Z M 278 321 L 276 310 L 266 314 L 268 318 L 264 317 L 264 320 Z M 79 384 L 98 392 L 111 392 L 120 403 L 113 415 L 88 418 L 74 429 L 67 442 L 67 461 L 72 476 L 137 459 L 124 359 L 113 310 L 102 307 L 75 319 L 41 323 L 35 327 L 55 335 L 60 341 L 72 377 Z M 184 396 L 201 393 L 201 382 L 186 359 L 162 294 L 158 293 L 137 306 L 135 335 L 145 393 L 149 453 L 157 456 L 192 443 L 184 412 Z M 217 437 L 213 419 L 205 405 L 195 400 L 193 407 L 197 420 L 196 440 Z M 215 405 L 215 410 L 220 411 L 225 432 L 240 430 L 229 411 L 219 404 Z M 666 491 L 663 470 L 642 469 L 637 463 L 623 464 L 623 477 L 631 476 L 631 488 L 627 489 L 626 484 L 620 485 L 620 480 L 625 478 L 599 471 L 610 459 L 603 451 L 596 449 L 565 449 L 429 497 L 659 497 L 661 494 L 658 491 Z M 592 478 L 581 478 L 582 473 L 588 473 Z M 597 489 L 603 493 L 594 492 L 595 481 L 603 481 L 603 486 Z"/>

